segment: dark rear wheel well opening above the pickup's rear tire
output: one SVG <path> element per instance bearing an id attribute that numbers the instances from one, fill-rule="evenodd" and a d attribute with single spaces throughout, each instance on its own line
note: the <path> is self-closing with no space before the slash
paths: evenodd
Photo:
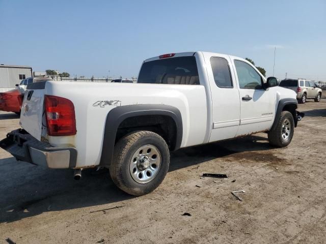
<path id="1" fill-rule="evenodd" d="M 118 127 L 115 143 L 126 134 L 140 130 L 152 131 L 160 135 L 169 148 L 174 150 L 177 125 L 174 119 L 167 115 L 140 115 L 124 119 Z"/>

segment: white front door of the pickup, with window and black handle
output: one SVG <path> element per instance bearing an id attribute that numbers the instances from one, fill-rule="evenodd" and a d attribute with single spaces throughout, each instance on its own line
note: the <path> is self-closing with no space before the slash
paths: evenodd
<path id="1" fill-rule="evenodd" d="M 249 63 L 233 59 L 240 97 L 240 125 L 236 136 L 266 131 L 273 124 L 276 98 L 263 89 L 263 77 Z"/>

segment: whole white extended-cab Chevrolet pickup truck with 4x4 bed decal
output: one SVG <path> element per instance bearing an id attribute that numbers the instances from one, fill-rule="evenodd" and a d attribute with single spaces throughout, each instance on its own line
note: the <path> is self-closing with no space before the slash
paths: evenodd
<path id="1" fill-rule="evenodd" d="M 258 132 L 286 146 L 303 114 L 293 90 L 247 60 L 211 52 L 146 59 L 138 83 L 46 81 L 28 85 L 20 125 L 0 146 L 49 168 L 107 167 L 132 195 L 166 176 L 170 151 Z"/>

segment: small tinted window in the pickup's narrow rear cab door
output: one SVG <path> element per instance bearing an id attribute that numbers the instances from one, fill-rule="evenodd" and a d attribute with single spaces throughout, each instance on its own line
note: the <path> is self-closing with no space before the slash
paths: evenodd
<path id="1" fill-rule="evenodd" d="M 219 87 L 232 88 L 231 72 L 227 60 L 223 57 L 211 57 L 210 65 L 216 85 Z"/>

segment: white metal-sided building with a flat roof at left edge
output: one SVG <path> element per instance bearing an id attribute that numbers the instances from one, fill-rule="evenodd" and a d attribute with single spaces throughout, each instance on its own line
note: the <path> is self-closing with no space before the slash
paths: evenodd
<path id="1" fill-rule="evenodd" d="M 15 88 L 21 80 L 32 77 L 32 67 L 0 65 L 0 92 Z"/>

